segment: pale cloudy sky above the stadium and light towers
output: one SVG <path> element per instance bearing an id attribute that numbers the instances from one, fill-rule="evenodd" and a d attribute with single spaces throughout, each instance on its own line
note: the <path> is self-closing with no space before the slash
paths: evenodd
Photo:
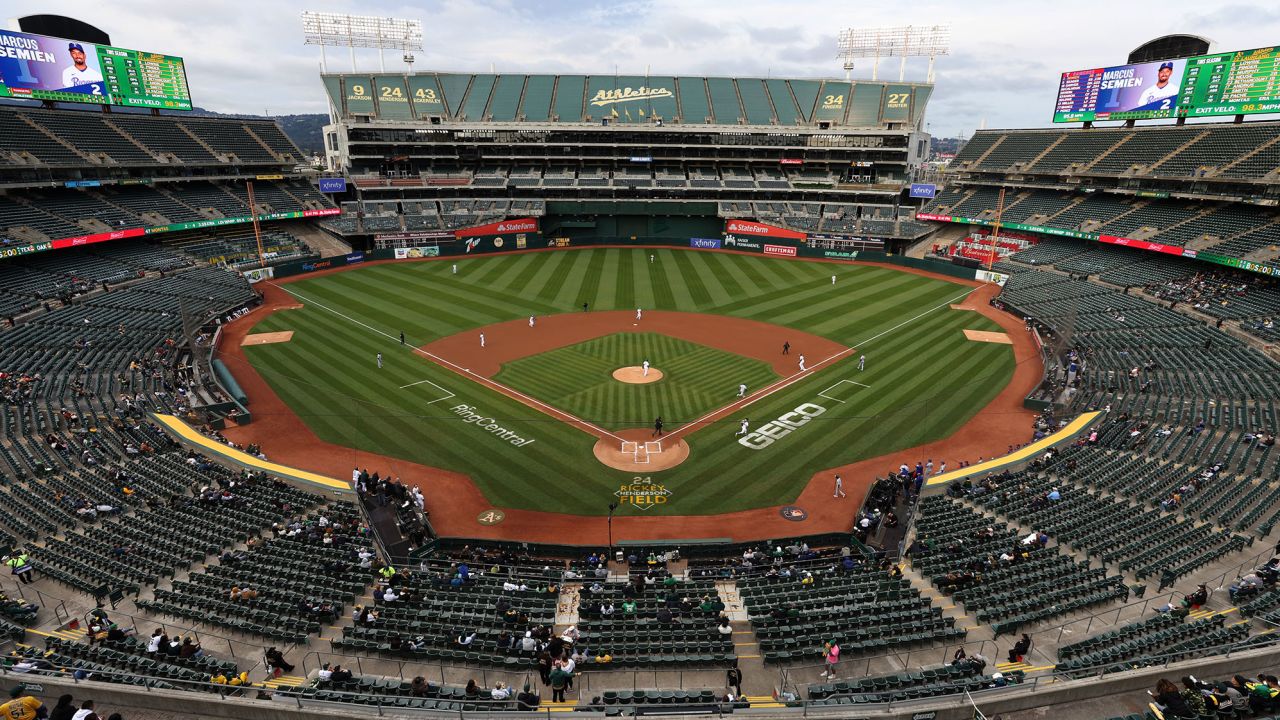
<path id="1" fill-rule="evenodd" d="M 1253 1 L 933 1 L 764 0 L 6 0 L 12 18 L 70 15 L 106 31 L 116 46 L 186 59 L 196 105 L 223 113 L 324 113 L 320 50 L 302 44 L 301 13 L 321 10 L 419 19 L 416 70 L 841 78 L 841 28 L 950 24 L 951 53 L 936 64 L 925 120 L 936 136 L 979 127 L 1046 127 L 1064 70 L 1123 64 L 1129 51 L 1169 33 L 1210 38 L 1213 51 L 1280 42 L 1280 3 Z M 330 72 L 351 69 L 329 49 Z M 357 54 L 378 69 L 376 51 Z M 881 63 L 896 79 L 899 60 Z M 389 70 L 404 68 L 398 51 Z M 870 78 L 870 61 L 852 77 Z M 925 61 L 906 78 L 924 81 Z"/>

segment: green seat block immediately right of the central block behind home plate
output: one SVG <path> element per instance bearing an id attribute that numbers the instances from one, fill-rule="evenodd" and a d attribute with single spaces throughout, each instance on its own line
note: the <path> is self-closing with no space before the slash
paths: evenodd
<path id="1" fill-rule="evenodd" d="M 965 637 L 954 618 L 870 559 L 855 559 L 850 570 L 826 562 L 791 577 L 741 578 L 737 587 L 768 662 L 817 657 L 832 639 L 844 652 L 878 653 Z"/>

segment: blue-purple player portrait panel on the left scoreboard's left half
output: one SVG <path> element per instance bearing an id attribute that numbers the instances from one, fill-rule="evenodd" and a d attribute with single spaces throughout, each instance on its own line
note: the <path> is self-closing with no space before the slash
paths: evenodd
<path id="1" fill-rule="evenodd" d="M 0 82 L 15 97 L 108 101 L 97 46 L 77 40 L 0 31 Z"/>

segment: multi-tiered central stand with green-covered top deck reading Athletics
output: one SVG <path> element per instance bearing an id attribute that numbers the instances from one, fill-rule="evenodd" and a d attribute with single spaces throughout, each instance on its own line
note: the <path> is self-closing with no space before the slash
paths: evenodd
<path id="1" fill-rule="evenodd" d="M 717 237 L 727 218 L 902 245 L 931 85 L 833 79 L 326 74 L 330 169 L 370 247 L 540 218 L 544 236 Z"/>

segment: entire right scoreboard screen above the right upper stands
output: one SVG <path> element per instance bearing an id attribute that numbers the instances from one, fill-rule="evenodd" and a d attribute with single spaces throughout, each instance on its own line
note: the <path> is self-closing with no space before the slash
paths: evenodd
<path id="1" fill-rule="evenodd" d="M 1055 123 L 1280 113 L 1280 49 L 1062 73 Z"/>

